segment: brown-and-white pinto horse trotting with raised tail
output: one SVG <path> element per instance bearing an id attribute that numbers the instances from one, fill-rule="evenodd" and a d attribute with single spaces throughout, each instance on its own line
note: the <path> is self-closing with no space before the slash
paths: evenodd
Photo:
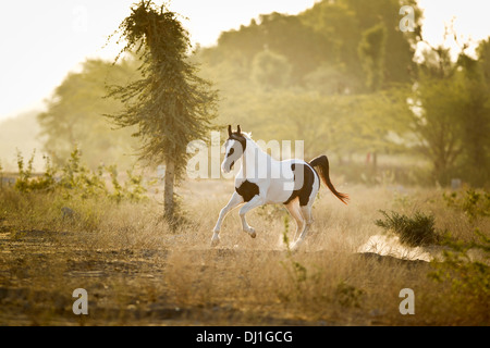
<path id="1" fill-rule="evenodd" d="M 242 132 L 240 125 L 236 132 L 232 132 L 229 125 L 228 135 L 221 170 L 230 173 L 238 160 L 242 165 L 235 175 L 235 191 L 221 209 L 212 231 L 212 247 L 219 244 L 221 224 L 233 209 L 243 204 L 238 212 L 243 231 L 255 238 L 257 234 L 248 225 L 246 213 L 264 204 L 282 203 L 296 223 L 295 236 L 299 234 L 299 237 L 292 250 L 297 250 L 314 222 L 311 207 L 320 189 L 320 179 L 336 198 L 347 204 L 348 196 L 339 192 L 330 181 L 327 156 L 317 157 L 308 163 L 298 159 L 277 161 L 260 149 L 250 134 Z"/>

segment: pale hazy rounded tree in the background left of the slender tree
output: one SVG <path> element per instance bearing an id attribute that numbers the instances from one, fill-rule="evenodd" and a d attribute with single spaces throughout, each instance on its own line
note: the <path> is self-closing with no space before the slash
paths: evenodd
<path id="1" fill-rule="evenodd" d="M 91 169 L 100 162 L 117 162 L 131 166 L 128 158 L 134 141 L 127 141 L 131 129 L 110 132 L 111 124 L 101 117 L 119 112 L 119 100 L 103 98 L 106 84 L 127 83 L 138 76 L 134 59 L 119 64 L 102 60 L 87 60 L 82 70 L 70 73 L 54 89 L 46 112 L 37 116 L 44 150 L 56 164 L 64 163 L 75 146 L 83 151 L 83 160 Z"/>

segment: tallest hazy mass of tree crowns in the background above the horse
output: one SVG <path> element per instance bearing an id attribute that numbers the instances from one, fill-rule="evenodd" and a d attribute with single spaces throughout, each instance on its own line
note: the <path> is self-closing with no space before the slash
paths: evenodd
<path id="1" fill-rule="evenodd" d="M 420 11 L 413 0 L 403 4 L 416 9 L 413 33 L 399 29 L 400 1 L 321 1 L 298 15 L 265 14 L 258 23 L 222 33 L 218 46 L 203 49 L 200 58 L 273 88 L 360 94 L 409 83 Z M 272 76 L 273 70 L 281 77 Z"/>

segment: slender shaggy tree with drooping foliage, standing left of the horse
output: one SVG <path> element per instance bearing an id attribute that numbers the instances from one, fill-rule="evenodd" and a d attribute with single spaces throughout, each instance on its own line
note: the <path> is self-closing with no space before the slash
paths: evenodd
<path id="1" fill-rule="evenodd" d="M 119 33 L 126 41 L 121 54 L 132 50 L 139 54 L 143 78 L 111 88 L 110 96 L 125 108 L 108 116 L 120 127 L 137 127 L 134 136 L 142 141 L 142 160 L 166 163 L 164 216 L 173 222 L 174 184 L 184 174 L 187 145 L 207 138 L 213 128 L 217 92 L 197 76 L 197 66 L 188 61 L 188 33 L 164 5 L 140 1 Z"/>

